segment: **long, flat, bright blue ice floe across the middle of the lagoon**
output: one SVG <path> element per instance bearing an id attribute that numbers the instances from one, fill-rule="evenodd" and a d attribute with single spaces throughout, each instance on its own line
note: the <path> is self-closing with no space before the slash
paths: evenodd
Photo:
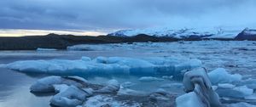
<path id="1" fill-rule="evenodd" d="M 1 65 L 25 73 L 47 73 L 68 75 L 180 75 L 182 70 L 201 67 L 199 59 L 173 57 L 149 57 L 142 59 L 125 57 L 83 57 L 77 60 L 23 60 Z"/>

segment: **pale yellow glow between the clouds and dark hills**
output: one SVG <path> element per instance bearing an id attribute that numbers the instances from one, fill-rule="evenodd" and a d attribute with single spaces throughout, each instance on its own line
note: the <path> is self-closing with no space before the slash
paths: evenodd
<path id="1" fill-rule="evenodd" d="M 25 36 L 45 36 L 49 33 L 60 35 L 75 35 L 75 36 L 100 36 L 106 35 L 106 32 L 101 31 L 52 31 L 52 30 L 15 30 L 15 29 L 0 29 L 0 37 L 25 37 Z"/>

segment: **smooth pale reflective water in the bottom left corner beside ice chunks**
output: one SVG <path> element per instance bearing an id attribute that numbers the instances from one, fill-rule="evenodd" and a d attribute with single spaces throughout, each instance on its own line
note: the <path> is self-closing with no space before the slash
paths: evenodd
<path id="1" fill-rule="evenodd" d="M 0 69 L 0 107 L 47 107 L 49 97 L 36 97 L 29 87 L 36 78 Z"/>

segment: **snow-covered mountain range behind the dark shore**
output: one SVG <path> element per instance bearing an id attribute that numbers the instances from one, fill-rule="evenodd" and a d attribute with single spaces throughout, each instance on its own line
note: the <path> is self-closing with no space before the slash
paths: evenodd
<path id="1" fill-rule="evenodd" d="M 235 38 L 243 29 L 238 28 L 183 28 L 173 30 L 171 28 L 146 28 L 137 30 L 122 30 L 108 34 L 108 36 L 133 37 L 138 34 L 145 34 L 155 37 L 174 37 L 174 38 Z"/>

